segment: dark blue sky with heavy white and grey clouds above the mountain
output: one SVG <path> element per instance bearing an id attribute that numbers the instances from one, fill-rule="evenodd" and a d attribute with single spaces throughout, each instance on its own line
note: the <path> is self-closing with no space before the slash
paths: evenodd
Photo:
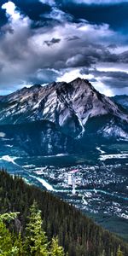
<path id="1" fill-rule="evenodd" d="M 128 95 L 128 0 L 1 0 L 0 95 L 77 77 Z"/>

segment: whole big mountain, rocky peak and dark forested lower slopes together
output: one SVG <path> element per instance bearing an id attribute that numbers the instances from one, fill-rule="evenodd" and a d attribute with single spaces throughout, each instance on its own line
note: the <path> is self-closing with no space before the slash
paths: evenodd
<path id="1" fill-rule="evenodd" d="M 29 154 L 84 152 L 128 139 L 128 115 L 88 80 L 39 84 L 0 97 L 2 140 Z"/>

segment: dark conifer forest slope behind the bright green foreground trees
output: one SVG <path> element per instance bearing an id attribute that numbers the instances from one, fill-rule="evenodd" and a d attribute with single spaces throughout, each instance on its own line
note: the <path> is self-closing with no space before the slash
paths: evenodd
<path id="1" fill-rule="evenodd" d="M 37 201 L 41 210 L 49 241 L 58 236 L 59 244 L 69 256 L 117 256 L 119 246 L 123 255 L 128 255 L 125 242 L 94 224 L 79 210 L 46 191 L 26 184 L 20 177 L 0 172 L 0 213 L 20 212 L 15 224 L 9 224 L 10 230 L 20 231 L 25 236 L 27 216 L 33 201 Z"/>

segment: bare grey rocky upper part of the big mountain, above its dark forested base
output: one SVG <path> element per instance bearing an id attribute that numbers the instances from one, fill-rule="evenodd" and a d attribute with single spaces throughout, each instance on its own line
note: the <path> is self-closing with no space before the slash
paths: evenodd
<path id="1" fill-rule="evenodd" d="M 6 108 L 0 111 L 3 123 L 48 120 L 65 131 L 84 132 L 87 121 L 93 117 L 111 114 L 127 120 L 118 106 L 107 96 L 100 94 L 86 79 L 74 79 L 70 83 L 41 86 L 34 84 L 3 96 Z M 11 104 L 10 104 L 11 102 Z"/>

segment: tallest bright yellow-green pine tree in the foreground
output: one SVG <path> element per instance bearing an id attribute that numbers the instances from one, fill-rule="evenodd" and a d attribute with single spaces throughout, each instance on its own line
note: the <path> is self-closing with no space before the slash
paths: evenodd
<path id="1" fill-rule="evenodd" d="M 26 225 L 26 255 L 48 256 L 48 240 L 42 228 L 41 212 L 34 202 L 30 209 L 29 223 Z"/>

